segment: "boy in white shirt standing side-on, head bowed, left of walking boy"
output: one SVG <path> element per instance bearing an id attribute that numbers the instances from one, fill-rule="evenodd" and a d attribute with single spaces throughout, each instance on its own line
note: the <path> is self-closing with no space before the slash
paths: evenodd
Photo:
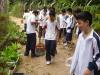
<path id="1" fill-rule="evenodd" d="M 36 57 L 35 47 L 36 47 L 36 25 L 38 23 L 36 17 L 38 12 L 34 10 L 33 14 L 30 15 L 27 21 L 27 43 L 26 43 L 26 51 L 24 53 L 25 56 L 29 56 L 29 52 L 31 50 L 31 57 Z"/>

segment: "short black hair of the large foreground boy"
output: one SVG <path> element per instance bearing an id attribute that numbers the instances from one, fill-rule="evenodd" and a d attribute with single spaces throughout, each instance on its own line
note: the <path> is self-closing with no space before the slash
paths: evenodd
<path id="1" fill-rule="evenodd" d="M 82 20 L 82 21 L 89 21 L 89 26 L 92 24 L 92 14 L 88 11 L 83 11 L 77 16 L 75 16 L 76 20 Z"/>

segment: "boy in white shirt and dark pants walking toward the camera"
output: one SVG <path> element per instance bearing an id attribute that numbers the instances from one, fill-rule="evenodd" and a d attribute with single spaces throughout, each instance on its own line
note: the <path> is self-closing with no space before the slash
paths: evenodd
<path id="1" fill-rule="evenodd" d="M 57 21 L 55 20 L 55 12 L 49 12 L 49 18 L 44 26 L 45 33 L 45 49 L 46 49 L 46 64 L 52 63 L 56 53 L 56 35 L 57 35 Z"/>

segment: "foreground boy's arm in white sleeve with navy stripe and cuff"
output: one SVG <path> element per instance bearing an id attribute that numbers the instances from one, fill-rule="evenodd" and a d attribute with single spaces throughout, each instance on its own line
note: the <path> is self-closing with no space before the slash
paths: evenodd
<path id="1" fill-rule="evenodd" d="M 93 62 L 88 64 L 88 69 L 100 70 L 100 38 L 96 33 L 94 33 L 95 39 L 93 40 Z"/>

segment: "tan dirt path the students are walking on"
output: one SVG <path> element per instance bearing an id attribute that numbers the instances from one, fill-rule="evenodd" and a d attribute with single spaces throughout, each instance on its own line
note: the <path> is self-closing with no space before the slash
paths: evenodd
<path id="1" fill-rule="evenodd" d="M 11 19 L 20 25 L 21 29 L 23 26 L 21 24 L 21 19 L 11 17 Z M 74 41 L 75 42 L 75 41 Z M 22 47 L 22 60 L 18 67 L 18 73 L 24 73 L 25 75 L 70 75 L 69 67 L 66 66 L 66 60 L 72 56 L 74 51 L 74 46 L 68 47 L 67 49 L 63 45 L 57 45 L 57 55 L 55 57 L 55 63 L 51 65 L 45 64 L 45 56 L 31 58 L 23 56 L 25 46 Z"/>

